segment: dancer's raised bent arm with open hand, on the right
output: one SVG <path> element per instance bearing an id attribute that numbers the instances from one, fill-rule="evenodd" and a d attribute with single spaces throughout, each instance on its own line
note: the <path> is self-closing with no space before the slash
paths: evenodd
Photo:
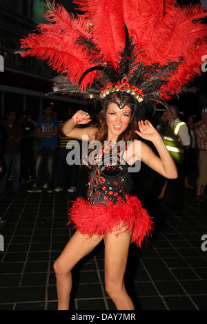
<path id="1" fill-rule="evenodd" d="M 155 170 L 162 176 L 168 179 L 177 178 L 177 168 L 172 156 L 166 149 L 166 145 L 161 139 L 161 136 L 152 126 L 150 121 L 139 121 L 139 131 L 135 131 L 143 139 L 151 141 L 159 156 L 157 156 L 145 143 L 141 142 L 141 161 L 146 163 L 152 170 Z"/>

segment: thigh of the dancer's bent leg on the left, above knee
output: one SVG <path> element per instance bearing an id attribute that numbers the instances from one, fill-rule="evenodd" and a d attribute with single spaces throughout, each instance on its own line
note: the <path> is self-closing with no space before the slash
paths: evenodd
<path id="1" fill-rule="evenodd" d="M 102 239 L 103 236 L 98 235 L 94 235 L 91 238 L 89 236 L 83 236 L 83 234 L 77 230 L 77 232 L 72 235 L 66 247 L 64 247 L 59 258 L 55 261 L 56 269 L 60 269 L 61 272 L 72 270 L 72 267 L 90 253 Z"/>

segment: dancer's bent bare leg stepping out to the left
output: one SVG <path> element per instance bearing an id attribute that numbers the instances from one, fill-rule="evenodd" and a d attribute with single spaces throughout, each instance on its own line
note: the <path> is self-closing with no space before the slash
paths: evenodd
<path id="1" fill-rule="evenodd" d="M 58 310 L 69 310 L 70 292 L 72 289 L 72 268 L 83 256 L 90 253 L 102 239 L 102 236 L 97 235 L 89 238 L 77 231 L 59 258 L 55 261 L 53 268 L 57 281 Z"/>

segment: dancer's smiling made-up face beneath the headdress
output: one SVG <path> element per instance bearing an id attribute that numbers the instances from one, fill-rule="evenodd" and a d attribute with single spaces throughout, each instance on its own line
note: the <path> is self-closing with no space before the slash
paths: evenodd
<path id="1" fill-rule="evenodd" d="M 120 101 L 117 99 L 117 102 Z M 131 108 L 128 105 L 120 109 L 116 103 L 109 103 L 106 110 L 108 139 L 113 141 L 117 140 L 118 136 L 128 128 L 131 114 Z"/>

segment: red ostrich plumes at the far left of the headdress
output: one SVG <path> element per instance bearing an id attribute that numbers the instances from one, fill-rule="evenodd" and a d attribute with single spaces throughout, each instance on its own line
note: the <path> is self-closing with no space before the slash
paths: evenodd
<path id="1" fill-rule="evenodd" d="M 21 49 L 29 49 L 22 52 L 21 56 L 48 59 L 48 65 L 53 70 L 70 77 L 70 81 L 77 85 L 83 71 L 94 65 L 88 60 L 87 50 L 75 44 L 80 36 L 90 37 L 90 28 L 83 17 L 75 19 L 61 5 L 55 7 L 53 3 L 53 6 L 55 10 L 48 10 L 45 15 L 50 23 L 40 24 L 37 33 L 33 32 L 26 39 L 21 39 Z M 88 74 L 81 87 L 90 85 L 94 77 L 95 72 Z"/>

